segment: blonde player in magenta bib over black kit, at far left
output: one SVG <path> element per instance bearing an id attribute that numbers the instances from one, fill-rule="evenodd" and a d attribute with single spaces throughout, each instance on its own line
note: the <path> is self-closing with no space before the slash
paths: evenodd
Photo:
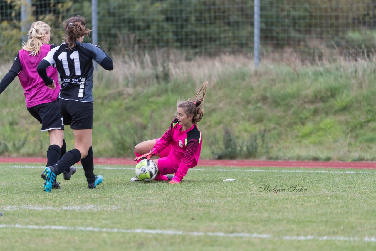
<path id="1" fill-rule="evenodd" d="M 23 44 L 22 49 L 14 59 L 13 65 L 0 82 L 0 94 L 11 84 L 16 76 L 24 89 L 26 108 L 29 113 L 42 124 L 41 132 L 48 131 L 50 146 L 47 149 L 47 164 L 52 166 L 59 161 L 62 155 L 67 152 L 67 145 L 64 140 L 64 125 L 62 116 L 59 113 L 58 95 L 60 85 L 56 85 L 55 90 L 45 86 L 36 68 L 39 62 L 55 45 L 50 42 L 50 26 L 42 21 L 32 23 L 29 30 L 29 38 Z M 54 67 L 47 70 L 50 78 L 58 81 L 58 72 Z M 14 95 L 9 93 L 9 95 Z M 69 180 L 76 172 L 71 168 L 70 172 L 64 173 L 64 180 Z M 44 170 L 41 175 L 45 178 Z M 60 188 L 59 183 L 53 183 L 53 188 Z"/>

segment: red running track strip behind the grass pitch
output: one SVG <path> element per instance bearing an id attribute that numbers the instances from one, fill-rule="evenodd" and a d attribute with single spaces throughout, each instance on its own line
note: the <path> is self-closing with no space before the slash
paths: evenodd
<path id="1" fill-rule="evenodd" d="M 46 162 L 47 158 L 42 157 L 0 157 L 0 163 L 37 163 L 43 165 Z M 94 158 L 94 164 L 133 166 L 136 163 L 132 159 L 126 158 Z M 198 166 L 376 169 L 376 162 L 200 160 Z"/>

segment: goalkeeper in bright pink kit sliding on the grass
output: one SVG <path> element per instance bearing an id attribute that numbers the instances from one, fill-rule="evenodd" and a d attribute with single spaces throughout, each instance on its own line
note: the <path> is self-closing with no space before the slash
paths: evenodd
<path id="1" fill-rule="evenodd" d="M 202 85 L 194 101 L 187 100 L 177 105 L 177 116 L 161 138 L 136 145 L 135 161 L 144 158 L 149 160 L 155 155 L 160 157 L 155 161 L 159 173 L 154 180 L 170 181 L 170 184 L 180 183 L 188 169 L 197 166 L 202 144 L 202 135 L 197 123 L 204 114 L 203 101 L 207 84 L 208 81 Z M 168 175 L 170 173 L 175 175 Z M 139 179 L 135 176 L 130 181 Z"/>

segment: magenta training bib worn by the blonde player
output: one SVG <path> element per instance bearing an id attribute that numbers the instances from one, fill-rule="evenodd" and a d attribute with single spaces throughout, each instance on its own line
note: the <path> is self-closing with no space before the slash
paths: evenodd
<path id="1" fill-rule="evenodd" d="M 35 56 L 29 55 L 30 52 L 24 49 L 19 52 L 22 70 L 18 73 L 18 78 L 24 89 L 27 107 L 49 103 L 58 98 L 60 91 L 58 71 L 53 67 L 47 68 L 47 75 L 55 81 L 55 90 L 49 89 L 36 71 L 36 67 L 50 51 L 50 47 L 50 44 L 43 44 L 41 51 Z"/>

